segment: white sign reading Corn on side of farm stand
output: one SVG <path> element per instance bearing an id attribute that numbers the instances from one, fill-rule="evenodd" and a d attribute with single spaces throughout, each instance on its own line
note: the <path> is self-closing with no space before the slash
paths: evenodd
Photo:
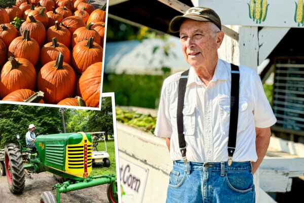
<path id="1" fill-rule="evenodd" d="M 149 170 L 119 158 L 122 202 L 142 202 Z"/>

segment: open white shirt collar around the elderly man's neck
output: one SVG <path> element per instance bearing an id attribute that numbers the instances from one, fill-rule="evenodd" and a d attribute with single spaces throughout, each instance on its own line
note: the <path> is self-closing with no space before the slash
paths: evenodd
<path id="1" fill-rule="evenodd" d="M 227 79 L 228 79 L 228 69 L 226 67 L 226 64 L 221 59 L 218 59 L 215 67 L 214 75 L 211 81 L 227 80 Z M 194 68 L 190 67 L 187 86 L 191 85 L 192 83 L 196 83 L 197 85 L 203 84 L 199 76 L 196 74 Z"/>

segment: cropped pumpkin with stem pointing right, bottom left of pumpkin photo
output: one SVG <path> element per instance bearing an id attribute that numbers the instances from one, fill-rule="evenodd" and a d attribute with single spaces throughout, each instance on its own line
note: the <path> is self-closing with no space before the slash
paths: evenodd
<path id="1" fill-rule="evenodd" d="M 35 92 L 31 89 L 18 89 L 16 91 L 13 91 L 13 92 L 9 93 L 8 95 L 6 95 L 2 100 L 3 101 L 27 102 L 26 100 L 29 97 L 33 96 L 33 94 L 35 94 Z M 37 102 L 39 99 L 40 99 L 40 101 Z M 40 96 L 39 98 L 37 98 L 37 100 L 35 100 L 34 103 L 44 104 L 44 101 L 43 101 L 43 99 L 41 99 L 41 96 Z"/>

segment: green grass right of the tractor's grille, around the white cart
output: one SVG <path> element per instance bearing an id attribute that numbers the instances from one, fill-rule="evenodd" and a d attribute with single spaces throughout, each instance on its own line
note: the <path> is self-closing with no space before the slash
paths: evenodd
<path id="1" fill-rule="evenodd" d="M 109 154 L 110 167 L 103 167 L 102 165 L 93 166 L 91 176 L 116 174 L 116 159 L 115 159 L 115 145 L 114 140 L 106 141 L 107 153 Z M 98 141 L 98 151 L 104 151 L 104 141 Z"/>

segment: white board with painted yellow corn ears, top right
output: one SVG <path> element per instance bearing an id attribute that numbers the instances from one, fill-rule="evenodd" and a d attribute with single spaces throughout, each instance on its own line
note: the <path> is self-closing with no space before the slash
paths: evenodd
<path id="1" fill-rule="evenodd" d="M 199 0 L 223 25 L 304 27 L 303 0 Z"/>

